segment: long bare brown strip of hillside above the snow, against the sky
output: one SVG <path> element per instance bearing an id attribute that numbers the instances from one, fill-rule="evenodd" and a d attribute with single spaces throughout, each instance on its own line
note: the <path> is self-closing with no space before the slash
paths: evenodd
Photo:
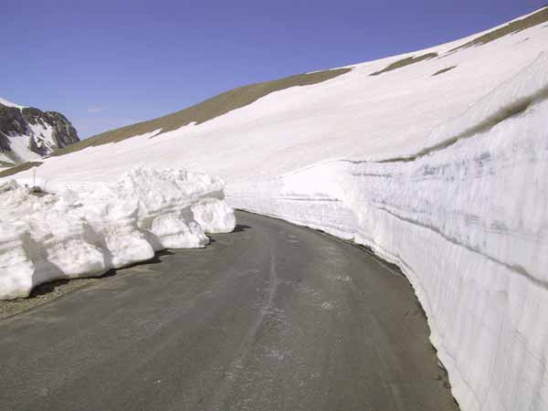
<path id="1" fill-rule="evenodd" d="M 122 140 L 135 135 L 153 132 L 158 129 L 162 129 L 162 132 L 171 132 L 184 125 L 190 124 L 193 121 L 199 124 L 215 119 L 218 116 L 226 114 L 228 111 L 247 106 L 274 91 L 285 90 L 295 86 L 308 86 L 321 83 L 322 81 L 334 79 L 335 77 L 348 73 L 351 70 L 352 68 L 338 68 L 334 70 L 317 71 L 314 73 L 298 74 L 296 76 L 286 77 L 285 79 L 239 87 L 202 101 L 195 106 L 168 114 L 158 119 L 139 122 L 112 130 L 111 132 L 103 132 L 94 137 L 90 137 L 87 140 L 57 150 L 53 153 L 53 156 L 74 153 L 90 146 L 106 144 L 109 142 L 121 142 Z"/>

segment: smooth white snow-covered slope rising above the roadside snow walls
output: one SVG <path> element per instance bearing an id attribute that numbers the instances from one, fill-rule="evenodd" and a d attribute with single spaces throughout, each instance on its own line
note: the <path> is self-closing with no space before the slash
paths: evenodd
<path id="1" fill-rule="evenodd" d="M 37 174 L 67 181 L 75 175 L 100 180 L 121 175 L 134 163 L 170 163 L 222 175 L 229 186 L 325 159 L 406 156 L 430 144 L 438 126 L 458 118 L 469 105 L 532 64 L 547 48 L 546 25 L 548 18 L 485 45 L 453 50 L 479 37 L 474 35 L 358 64 L 342 76 L 271 93 L 211 121 L 153 138 L 145 133 L 93 146 L 61 160 L 47 159 Z M 396 61 L 433 52 L 437 58 L 371 76 Z M 450 67 L 456 68 L 433 76 Z"/>

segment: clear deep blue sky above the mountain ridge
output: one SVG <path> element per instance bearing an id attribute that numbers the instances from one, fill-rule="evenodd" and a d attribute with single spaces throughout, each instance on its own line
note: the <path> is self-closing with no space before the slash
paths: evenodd
<path id="1" fill-rule="evenodd" d="M 89 137 L 248 83 L 435 46 L 545 2 L 5 2 L 0 97 L 61 111 Z"/>

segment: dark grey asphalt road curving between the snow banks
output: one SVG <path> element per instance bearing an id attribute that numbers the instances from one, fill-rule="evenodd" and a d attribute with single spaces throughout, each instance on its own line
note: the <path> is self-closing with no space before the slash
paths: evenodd
<path id="1" fill-rule="evenodd" d="M 406 279 L 238 213 L 201 250 L 0 321 L 0 410 L 457 410 Z"/>

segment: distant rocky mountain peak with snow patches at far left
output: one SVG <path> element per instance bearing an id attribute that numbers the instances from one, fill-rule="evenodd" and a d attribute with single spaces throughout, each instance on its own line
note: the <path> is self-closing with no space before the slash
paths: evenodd
<path id="1" fill-rule="evenodd" d="M 0 99 L 0 166 L 38 160 L 79 142 L 65 116 Z"/>

